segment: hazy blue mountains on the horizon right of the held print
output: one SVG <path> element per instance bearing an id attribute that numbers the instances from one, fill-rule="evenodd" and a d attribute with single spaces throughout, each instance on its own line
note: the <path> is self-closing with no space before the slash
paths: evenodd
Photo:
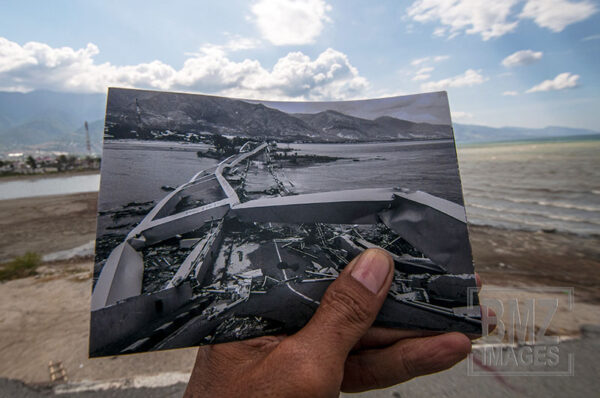
<path id="1" fill-rule="evenodd" d="M 544 128 L 487 127 L 454 123 L 454 137 L 459 144 L 520 141 L 547 138 L 564 138 L 600 135 L 600 132 L 571 127 L 549 126 Z"/>

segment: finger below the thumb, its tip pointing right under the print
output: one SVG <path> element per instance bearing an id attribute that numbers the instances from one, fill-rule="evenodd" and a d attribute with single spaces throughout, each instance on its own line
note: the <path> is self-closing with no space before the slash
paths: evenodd
<path id="1" fill-rule="evenodd" d="M 471 352 L 471 341 L 461 333 L 405 339 L 381 350 L 350 355 L 344 368 L 342 391 L 384 388 L 413 377 L 454 366 Z"/>

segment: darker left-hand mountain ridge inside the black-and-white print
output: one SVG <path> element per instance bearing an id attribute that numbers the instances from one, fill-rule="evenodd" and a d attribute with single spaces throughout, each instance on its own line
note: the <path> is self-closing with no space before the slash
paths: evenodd
<path id="1" fill-rule="evenodd" d="M 106 122 L 114 138 L 151 139 L 169 130 L 295 139 L 309 135 L 302 120 L 262 104 L 178 93 L 115 89 Z"/>

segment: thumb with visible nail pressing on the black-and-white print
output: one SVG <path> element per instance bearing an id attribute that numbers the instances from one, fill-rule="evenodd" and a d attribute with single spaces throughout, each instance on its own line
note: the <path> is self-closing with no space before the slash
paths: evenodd
<path id="1" fill-rule="evenodd" d="M 310 322 L 293 339 L 314 349 L 321 360 L 343 364 L 381 309 L 393 269 L 393 260 L 385 251 L 363 252 L 329 286 Z"/>

